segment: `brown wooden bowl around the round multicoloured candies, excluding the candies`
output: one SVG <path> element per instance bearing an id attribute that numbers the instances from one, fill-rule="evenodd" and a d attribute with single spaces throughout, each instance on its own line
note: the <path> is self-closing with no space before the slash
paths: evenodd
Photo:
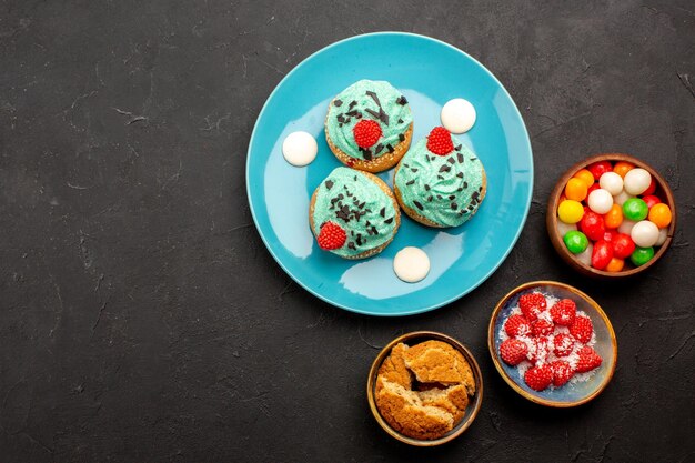
<path id="1" fill-rule="evenodd" d="M 652 258 L 652 260 L 645 263 L 644 265 L 634 266 L 632 262 L 629 261 L 629 259 L 626 259 L 625 268 L 620 272 L 606 272 L 604 270 L 594 269 L 593 266 L 590 266 L 580 262 L 580 260 L 576 259 L 575 255 L 567 250 L 563 241 L 563 236 L 560 234 L 557 230 L 557 222 L 558 222 L 557 207 L 560 205 L 560 197 L 563 194 L 565 185 L 567 184 L 567 181 L 578 170 L 584 169 L 587 165 L 594 162 L 598 162 L 598 161 L 611 161 L 611 162 L 625 161 L 625 162 L 633 163 L 637 168 L 642 168 L 646 170 L 647 172 L 649 172 L 649 174 L 652 174 L 652 178 L 656 181 L 656 191 L 654 192 L 654 194 L 656 194 L 665 204 L 668 205 L 668 208 L 671 208 L 672 220 L 671 220 L 671 224 L 668 225 L 666 241 L 659 248 L 656 248 L 654 258 Z M 587 158 L 581 162 L 577 162 L 576 164 L 571 167 L 560 178 L 560 180 L 555 184 L 555 188 L 553 189 L 553 192 L 551 193 L 550 200 L 547 201 L 547 212 L 545 217 L 545 224 L 547 228 L 547 233 L 551 238 L 551 242 L 553 243 L 553 246 L 555 248 L 555 251 L 557 251 L 560 256 L 567 264 L 570 264 L 570 266 L 572 266 L 574 270 L 576 270 L 577 272 L 584 275 L 594 276 L 598 279 L 605 279 L 605 280 L 621 279 L 624 276 L 632 276 L 637 273 L 644 272 L 649 266 L 654 265 L 654 263 L 656 263 L 656 261 L 658 261 L 664 255 L 664 253 L 671 245 L 671 241 L 673 240 L 673 236 L 676 230 L 676 202 L 673 198 L 673 193 L 671 191 L 671 188 L 668 187 L 668 183 L 666 183 L 664 178 L 659 175 L 658 172 L 656 172 L 656 170 L 654 170 L 654 168 L 652 168 L 646 162 L 641 161 L 639 159 L 634 158 L 629 154 L 620 154 L 620 153 L 597 154 L 597 155 Z"/>

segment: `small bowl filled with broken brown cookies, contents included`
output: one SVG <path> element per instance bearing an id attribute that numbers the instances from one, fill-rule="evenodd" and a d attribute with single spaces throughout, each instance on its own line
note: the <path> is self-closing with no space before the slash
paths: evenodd
<path id="1" fill-rule="evenodd" d="M 483 380 L 471 352 L 455 339 L 416 331 L 391 341 L 376 356 L 366 384 L 379 425 L 415 446 L 441 445 L 471 426 Z"/>

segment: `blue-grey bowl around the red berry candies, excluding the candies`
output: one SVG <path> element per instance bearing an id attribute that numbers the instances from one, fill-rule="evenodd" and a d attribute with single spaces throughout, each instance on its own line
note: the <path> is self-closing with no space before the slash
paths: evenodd
<path id="1" fill-rule="evenodd" d="M 603 362 L 585 382 L 567 383 L 561 387 L 548 387 L 540 392 L 534 391 L 526 385 L 516 366 L 507 365 L 500 358 L 504 322 L 514 306 L 518 304 L 518 298 L 522 294 L 536 291 L 556 299 L 572 299 L 576 303 L 577 311 L 583 311 L 591 319 L 596 335 L 593 348 Z M 513 289 L 502 298 L 490 318 L 487 348 L 497 372 L 514 391 L 531 402 L 560 409 L 581 405 L 601 394 L 611 382 L 617 362 L 617 341 L 605 312 L 596 301 L 582 291 L 556 281 L 532 281 Z"/>

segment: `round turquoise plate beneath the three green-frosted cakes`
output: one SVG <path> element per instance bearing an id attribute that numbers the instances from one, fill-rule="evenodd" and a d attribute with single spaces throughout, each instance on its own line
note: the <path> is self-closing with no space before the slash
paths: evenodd
<path id="1" fill-rule="evenodd" d="M 399 233 L 381 254 L 349 261 L 319 249 L 308 217 L 316 185 L 342 165 L 323 132 L 329 101 L 360 79 L 387 80 L 403 92 L 413 111 L 413 143 L 441 124 L 446 101 L 471 101 L 477 121 L 459 138 L 485 165 L 487 195 L 476 215 L 455 229 L 429 229 L 403 214 Z M 316 160 L 305 168 L 294 168 L 282 157 L 284 138 L 298 130 L 319 142 Z M 392 184 L 393 170 L 380 175 Z M 516 105 L 481 63 L 439 40 L 372 33 L 320 50 L 278 84 L 251 134 L 246 189 L 263 242 L 299 284 L 350 311 L 407 315 L 455 301 L 504 261 L 528 213 L 533 157 Z M 415 284 L 402 282 L 392 269 L 395 253 L 409 245 L 423 249 L 431 261 L 430 274 Z"/>

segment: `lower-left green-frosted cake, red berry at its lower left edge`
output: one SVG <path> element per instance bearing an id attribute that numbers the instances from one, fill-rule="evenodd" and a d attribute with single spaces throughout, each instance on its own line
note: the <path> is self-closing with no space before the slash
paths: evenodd
<path id="1" fill-rule="evenodd" d="M 401 211 L 380 178 L 336 168 L 311 198 L 309 224 L 324 251 L 345 259 L 364 259 L 377 254 L 393 240 Z"/>

